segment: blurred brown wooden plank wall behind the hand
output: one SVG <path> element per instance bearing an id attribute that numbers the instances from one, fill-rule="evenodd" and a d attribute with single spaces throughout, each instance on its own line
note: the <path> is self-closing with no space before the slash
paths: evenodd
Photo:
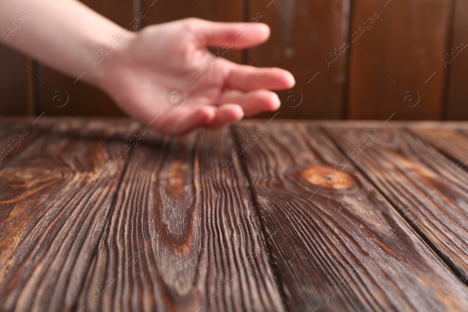
<path id="1" fill-rule="evenodd" d="M 468 43 L 468 0 L 82 2 L 124 27 L 139 12 L 140 26 L 189 16 L 242 22 L 259 13 L 270 40 L 226 57 L 294 74 L 296 87 L 279 92 L 277 118 L 468 119 L 468 49 L 461 48 Z M 2 44 L 0 60 L 0 114 L 124 115 L 98 89 Z M 54 102 L 57 94 L 68 94 L 64 107 Z"/>

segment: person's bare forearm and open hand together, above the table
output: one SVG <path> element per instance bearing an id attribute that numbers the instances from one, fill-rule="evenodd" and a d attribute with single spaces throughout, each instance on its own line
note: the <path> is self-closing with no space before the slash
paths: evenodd
<path id="1" fill-rule="evenodd" d="M 274 111 L 280 101 L 271 90 L 295 84 L 292 74 L 280 68 L 239 65 L 225 58 L 210 66 L 207 58 L 214 58 L 206 47 L 221 48 L 233 42 L 230 36 L 245 22 L 190 18 L 146 26 L 127 33 L 117 43 L 113 36 L 123 28 L 79 1 L 36 1 L 0 1 L 0 33 L 22 12 L 28 15 L 1 44 L 75 79 L 85 72 L 80 81 L 101 88 L 130 116 L 167 134 L 220 128 L 244 116 Z M 253 25 L 227 53 L 268 39 L 266 24 Z M 110 41 L 115 47 L 93 64 L 90 58 Z M 166 93 L 174 87 L 185 94 L 180 107 L 166 102 Z"/>

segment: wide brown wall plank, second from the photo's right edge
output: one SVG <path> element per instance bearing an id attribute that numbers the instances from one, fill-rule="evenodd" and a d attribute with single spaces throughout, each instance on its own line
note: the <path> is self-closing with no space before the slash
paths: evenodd
<path id="1" fill-rule="evenodd" d="M 351 12 L 348 118 L 442 118 L 453 0 L 356 0 Z"/>

